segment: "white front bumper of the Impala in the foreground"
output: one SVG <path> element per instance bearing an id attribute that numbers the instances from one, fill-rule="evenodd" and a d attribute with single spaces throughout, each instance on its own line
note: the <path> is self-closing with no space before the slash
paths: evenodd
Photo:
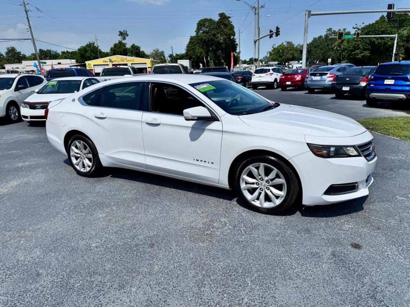
<path id="1" fill-rule="evenodd" d="M 311 151 L 289 159 L 301 180 L 302 203 L 308 206 L 339 203 L 368 195 L 368 188 L 373 183 L 369 176 L 376 161 L 377 157 L 367 161 L 362 156 L 324 159 L 314 156 Z M 347 183 L 357 183 L 357 190 L 346 194 L 325 194 L 331 185 Z"/>

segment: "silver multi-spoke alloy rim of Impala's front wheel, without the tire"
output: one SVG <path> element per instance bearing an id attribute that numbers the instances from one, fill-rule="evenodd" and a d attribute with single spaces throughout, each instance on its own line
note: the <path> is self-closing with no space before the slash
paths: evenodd
<path id="1" fill-rule="evenodd" d="M 244 169 L 240 180 L 241 191 L 248 201 L 261 208 L 273 208 L 286 196 L 283 175 L 266 163 L 254 163 Z"/>

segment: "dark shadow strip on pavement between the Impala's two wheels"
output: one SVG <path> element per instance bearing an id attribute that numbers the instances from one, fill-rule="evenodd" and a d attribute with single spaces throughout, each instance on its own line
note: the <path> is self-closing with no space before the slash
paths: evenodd
<path id="1" fill-rule="evenodd" d="M 66 160 L 67 162 L 64 162 L 69 164 L 68 159 Z M 201 194 L 205 196 L 212 196 L 226 201 L 232 201 L 236 197 L 235 194 L 230 190 L 224 190 L 218 187 L 201 185 L 198 183 L 192 183 L 189 181 L 183 181 L 179 179 L 149 174 L 145 172 L 138 172 L 131 169 L 106 167 L 106 169 L 103 171 L 103 174 L 101 175 L 105 175 L 104 177 L 110 176 L 112 178 L 121 178 L 125 180 L 136 181 L 140 183 L 146 183 L 151 185 L 157 185 L 160 187 L 168 187 L 171 189 L 181 190 L 185 192 Z"/>

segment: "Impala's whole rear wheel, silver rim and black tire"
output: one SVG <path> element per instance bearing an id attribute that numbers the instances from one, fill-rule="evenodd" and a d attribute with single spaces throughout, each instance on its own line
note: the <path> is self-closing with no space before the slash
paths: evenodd
<path id="1" fill-rule="evenodd" d="M 68 141 L 67 155 L 71 166 L 80 176 L 91 177 L 102 168 L 94 143 L 84 135 L 71 137 Z"/>

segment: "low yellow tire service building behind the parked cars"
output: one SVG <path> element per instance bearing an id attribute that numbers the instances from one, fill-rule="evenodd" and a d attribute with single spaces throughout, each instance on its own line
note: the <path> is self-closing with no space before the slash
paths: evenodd
<path id="1" fill-rule="evenodd" d="M 148 74 L 150 74 L 154 65 L 158 63 L 159 61 L 155 60 L 122 55 L 107 56 L 105 58 L 85 62 L 86 68 L 91 70 L 96 76 L 100 75 L 100 72 L 103 69 L 103 67 L 112 67 L 117 65 L 134 66 L 140 73 L 148 72 Z"/>

